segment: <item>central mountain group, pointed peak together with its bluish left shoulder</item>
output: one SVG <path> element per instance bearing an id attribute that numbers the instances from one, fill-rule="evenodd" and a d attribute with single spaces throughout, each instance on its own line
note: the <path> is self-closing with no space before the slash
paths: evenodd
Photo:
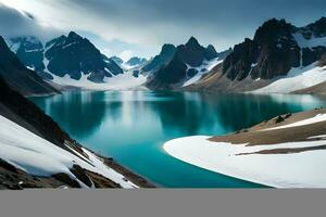
<path id="1" fill-rule="evenodd" d="M 174 47 L 165 44 L 143 71 L 155 71 L 147 82 L 150 89 L 175 89 L 193 77 L 200 77 L 220 63 L 230 50 L 217 53 L 210 44 L 202 47 L 195 37 L 186 44 Z"/>

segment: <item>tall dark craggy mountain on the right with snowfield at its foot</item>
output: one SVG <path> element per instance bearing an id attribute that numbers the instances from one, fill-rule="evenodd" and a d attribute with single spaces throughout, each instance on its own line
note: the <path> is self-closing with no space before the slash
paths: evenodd
<path id="1" fill-rule="evenodd" d="M 297 91 L 326 79 L 322 73 L 317 73 L 324 71 L 317 66 L 317 61 L 324 53 L 325 17 L 304 27 L 272 18 L 258 28 L 253 39 L 246 38 L 242 43 L 236 44 L 222 67 L 215 68 L 210 76 L 191 88 L 237 92 Z M 302 76 L 308 71 L 310 73 Z M 290 77 L 296 78 L 289 79 Z M 273 85 L 274 82 L 277 85 Z"/>

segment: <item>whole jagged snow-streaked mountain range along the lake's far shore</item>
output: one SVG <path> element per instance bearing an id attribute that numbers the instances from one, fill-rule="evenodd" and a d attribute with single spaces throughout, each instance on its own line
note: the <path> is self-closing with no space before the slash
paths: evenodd
<path id="1" fill-rule="evenodd" d="M 48 42 L 32 36 L 9 38 L 7 42 L 26 67 L 63 86 L 110 89 L 120 82 L 123 88 L 133 84 L 133 88 L 153 90 L 292 92 L 326 82 L 323 74 L 313 71 L 324 72 L 317 62 L 326 53 L 326 17 L 304 27 L 272 18 L 252 39 L 246 38 L 223 52 L 216 52 L 212 44 L 203 47 L 191 37 L 177 47 L 164 44 L 149 61 L 108 58 L 74 31 Z M 289 77 L 287 82 L 280 81 Z M 287 88 L 294 80 L 301 85 Z"/>

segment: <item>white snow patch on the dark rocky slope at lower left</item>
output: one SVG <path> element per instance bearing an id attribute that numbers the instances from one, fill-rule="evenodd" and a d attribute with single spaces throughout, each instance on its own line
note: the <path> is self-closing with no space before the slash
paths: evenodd
<path id="1" fill-rule="evenodd" d="M 83 151 L 89 158 L 80 154 L 78 157 L 1 115 L 0 129 L 0 158 L 28 174 L 49 177 L 64 173 L 83 186 L 83 182 L 70 171 L 70 168 L 77 164 L 89 171 L 106 177 L 123 188 L 137 188 L 136 184 L 125 181 L 124 176 L 109 168 L 99 157 L 85 149 Z"/>

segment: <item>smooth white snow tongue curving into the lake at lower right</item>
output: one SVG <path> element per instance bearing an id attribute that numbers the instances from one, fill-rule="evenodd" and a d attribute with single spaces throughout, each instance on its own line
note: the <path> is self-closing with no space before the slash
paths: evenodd
<path id="1" fill-rule="evenodd" d="M 211 142 L 197 136 L 171 140 L 164 150 L 189 164 L 275 188 L 326 188 L 326 150 L 292 154 L 248 154 L 261 150 L 305 148 L 325 144 L 325 140 L 246 146 Z"/>

